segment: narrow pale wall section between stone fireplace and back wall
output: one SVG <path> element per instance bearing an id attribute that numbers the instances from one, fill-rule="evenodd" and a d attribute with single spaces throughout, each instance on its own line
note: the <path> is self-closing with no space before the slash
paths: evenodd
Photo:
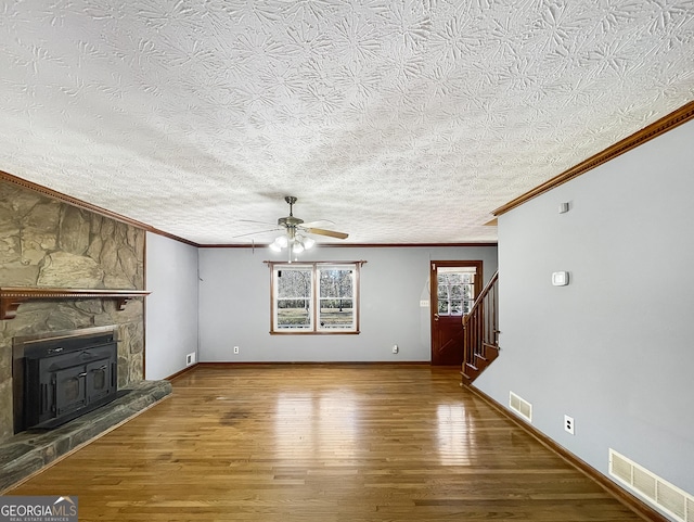
<path id="1" fill-rule="evenodd" d="M 164 379 L 197 354 L 197 249 L 147 232 L 145 379 Z"/>

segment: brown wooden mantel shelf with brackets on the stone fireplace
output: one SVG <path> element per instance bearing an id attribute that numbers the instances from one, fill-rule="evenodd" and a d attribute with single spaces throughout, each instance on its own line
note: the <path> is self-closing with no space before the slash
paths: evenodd
<path id="1" fill-rule="evenodd" d="M 22 303 L 38 300 L 116 300 L 116 307 L 123 310 L 128 300 L 149 295 L 146 290 L 102 290 L 102 289 L 51 289 L 51 288 L 0 288 L 0 320 L 13 319 Z"/>

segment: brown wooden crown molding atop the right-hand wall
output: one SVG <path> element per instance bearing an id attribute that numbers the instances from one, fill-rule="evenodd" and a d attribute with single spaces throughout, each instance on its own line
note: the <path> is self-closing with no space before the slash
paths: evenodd
<path id="1" fill-rule="evenodd" d="M 647 127 L 644 127 L 643 129 L 634 132 L 633 135 L 625 138 L 621 141 L 618 141 L 614 145 L 608 147 L 604 151 L 599 152 L 597 154 L 569 168 L 568 170 L 563 171 L 558 176 L 555 176 L 554 178 L 545 181 L 535 189 L 529 190 L 525 194 L 522 194 L 515 200 L 510 201 L 505 205 L 500 206 L 494 212 L 492 212 L 492 214 L 494 216 L 501 216 L 502 214 L 505 214 L 506 212 L 523 205 L 527 201 L 537 198 L 540 194 L 544 194 L 545 192 L 549 192 L 560 184 L 566 183 L 567 181 L 582 174 L 586 174 L 587 171 L 592 170 L 593 168 L 599 167 L 600 165 L 603 165 L 611 160 L 614 160 L 625 152 L 629 152 L 637 147 L 642 145 L 646 141 L 657 138 L 668 130 L 685 124 L 691 119 L 694 119 L 694 101 L 689 102 L 687 104 L 681 106 L 677 111 L 671 112 L 667 116 L 658 119 Z"/>

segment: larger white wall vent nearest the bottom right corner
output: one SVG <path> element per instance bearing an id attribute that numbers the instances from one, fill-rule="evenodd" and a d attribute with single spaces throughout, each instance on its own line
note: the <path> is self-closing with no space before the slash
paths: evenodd
<path id="1" fill-rule="evenodd" d="M 694 496 L 609 449 L 609 474 L 681 522 L 694 522 Z"/>

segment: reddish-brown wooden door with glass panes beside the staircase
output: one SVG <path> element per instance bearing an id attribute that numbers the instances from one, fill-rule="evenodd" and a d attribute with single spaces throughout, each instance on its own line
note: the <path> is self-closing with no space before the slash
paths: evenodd
<path id="1" fill-rule="evenodd" d="M 463 315 L 481 284 L 481 262 L 432 262 L 432 365 L 463 364 Z"/>

